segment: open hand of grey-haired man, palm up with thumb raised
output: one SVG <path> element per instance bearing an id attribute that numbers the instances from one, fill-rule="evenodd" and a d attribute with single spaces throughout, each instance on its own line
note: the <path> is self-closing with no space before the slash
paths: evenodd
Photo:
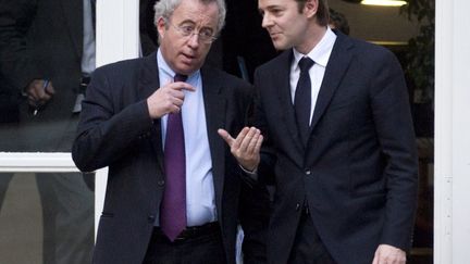
<path id="1" fill-rule="evenodd" d="M 236 139 L 224 129 L 219 129 L 218 133 L 230 146 L 231 152 L 238 161 L 238 164 L 250 172 L 258 167 L 263 141 L 263 136 L 258 128 L 244 127 Z"/>

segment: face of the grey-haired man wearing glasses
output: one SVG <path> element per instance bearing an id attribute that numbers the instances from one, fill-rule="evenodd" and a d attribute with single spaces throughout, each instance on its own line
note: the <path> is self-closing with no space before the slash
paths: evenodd
<path id="1" fill-rule="evenodd" d="M 189 75 L 202 66 L 211 41 L 203 41 L 198 34 L 215 35 L 218 21 L 217 3 L 203 4 L 199 0 L 183 0 L 170 20 L 160 17 L 160 50 L 173 71 Z"/>

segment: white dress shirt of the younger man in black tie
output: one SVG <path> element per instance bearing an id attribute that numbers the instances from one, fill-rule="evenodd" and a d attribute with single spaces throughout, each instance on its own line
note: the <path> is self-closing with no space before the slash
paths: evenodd
<path id="1" fill-rule="evenodd" d="M 290 98 L 294 103 L 295 91 L 297 87 L 298 79 L 300 77 L 300 67 L 298 62 L 304 56 L 309 56 L 314 61 L 313 66 L 309 70 L 310 80 L 311 80 L 311 109 L 310 109 L 310 123 L 313 116 L 313 110 L 317 103 L 318 93 L 320 91 L 321 84 L 323 81 L 324 72 L 326 64 L 330 60 L 330 55 L 333 51 L 334 42 L 336 41 L 336 35 L 330 29 L 326 29 L 325 35 L 320 40 L 320 42 L 308 53 L 302 54 L 296 49 L 294 50 L 294 60 L 290 64 Z"/>

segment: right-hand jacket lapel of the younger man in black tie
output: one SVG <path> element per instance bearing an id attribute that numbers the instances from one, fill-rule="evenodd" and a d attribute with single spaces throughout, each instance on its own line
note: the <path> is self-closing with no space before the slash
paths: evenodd
<path id="1" fill-rule="evenodd" d="M 344 35 L 337 33 L 337 39 L 326 65 L 325 74 L 323 76 L 322 85 L 320 87 L 313 111 L 313 117 L 310 124 L 311 131 L 314 129 L 321 116 L 324 114 L 334 92 L 343 80 L 346 70 L 348 68 L 352 59 L 351 52 L 348 52 L 348 49 L 351 47 L 352 45 L 350 41 Z"/>

